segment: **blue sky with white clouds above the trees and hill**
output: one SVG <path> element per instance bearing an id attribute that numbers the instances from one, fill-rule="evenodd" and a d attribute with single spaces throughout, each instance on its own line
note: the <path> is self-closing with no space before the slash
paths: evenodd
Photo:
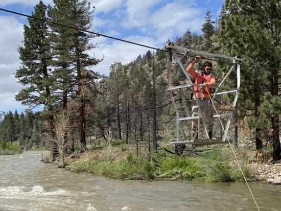
<path id="1" fill-rule="evenodd" d="M 31 15 L 38 0 L 0 0 L 0 8 Z M 163 48 L 168 39 L 174 40 L 187 30 L 201 34 L 205 13 L 210 10 L 217 17 L 223 0 L 89 0 L 95 6 L 92 31 L 145 45 Z M 52 5 L 53 0 L 43 0 Z M 27 18 L 0 11 L 0 111 L 27 106 L 15 100 L 22 88 L 14 73 L 20 66 L 18 47 L 22 46 L 23 26 Z M 104 60 L 94 71 L 108 75 L 113 62 L 129 63 L 149 49 L 103 37 L 92 39 L 97 43 L 93 51 Z M 40 109 L 40 108 L 37 108 Z"/>

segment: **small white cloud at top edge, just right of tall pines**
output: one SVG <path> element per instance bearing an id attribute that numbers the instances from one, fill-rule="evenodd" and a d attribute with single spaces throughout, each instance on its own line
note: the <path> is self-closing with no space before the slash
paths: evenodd
<path id="1" fill-rule="evenodd" d="M 110 12 L 122 5 L 122 0 L 91 0 L 91 6 L 96 7 L 96 12 Z"/>

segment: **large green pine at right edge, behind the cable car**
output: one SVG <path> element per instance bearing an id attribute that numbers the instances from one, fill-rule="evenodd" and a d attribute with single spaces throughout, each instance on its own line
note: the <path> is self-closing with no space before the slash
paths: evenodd
<path id="1" fill-rule="evenodd" d="M 271 131 L 273 160 L 281 159 L 278 96 L 280 68 L 281 5 L 278 0 L 226 1 L 221 17 L 220 41 L 230 55 L 245 58 L 243 62 L 275 67 L 243 67 L 244 107 L 252 107 L 255 119 L 256 146 L 261 147 L 262 134 Z M 245 99 L 245 100 L 244 100 Z M 271 129 L 269 128 L 271 127 Z"/>

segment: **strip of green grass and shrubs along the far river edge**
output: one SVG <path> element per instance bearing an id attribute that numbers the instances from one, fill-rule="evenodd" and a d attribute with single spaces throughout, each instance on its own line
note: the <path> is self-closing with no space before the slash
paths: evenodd
<path id="1" fill-rule="evenodd" d="M 126 145 L 120 143 L 117 151 L 126 151 Z M 113 150 L 114 151 L 114 150 Z M 183 179 L 205 182 L 244 181 L 243 175 L 233 158 L 226 150 L 205 151 L 199 156 L 181 157 L 159 150 L 152 158 L 135 156 L 128 153 L 119 161 L 79 160 L 69 164 L 72 171 L 88 172 L 118 179 Z M 243 165 L 246 178 L 253 178 L 250 169 Z"/>

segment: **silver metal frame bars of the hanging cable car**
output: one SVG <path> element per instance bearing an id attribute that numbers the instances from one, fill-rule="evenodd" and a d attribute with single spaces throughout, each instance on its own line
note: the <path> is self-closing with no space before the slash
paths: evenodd
<path id="1" fill-rule="evenodd" d="M 239 95 L 239 88 L 240 88 L 240 62 L 243 61 L 243 59 L 237 58 L 237 57 L 228 57 L 228 56 L 224 56 L 224 55 L 217 55 L 217 54 L 211 54 L 211 53 L 206 53 L 206 52 L 200 52 L 200 51 L 194 51 L 194 50 L 190 50 L 190 49 L 186 49 L 180 46 L 176 46 L 173 45 L 173 43 L 169 42 L 166 45 L 166 48 L 170 51 L 170 60 L 168 61 L 168 90 L 170 92 L 170 96 L 172 99 L 172 103 L 174 105 L 175 111 L 176 111 L 176 140 L 174 142 L 172 142 L 173 144 L 196 144 L 196 145 L 209 145 L 209 144 L 226 144 L 225 139 L 227 136 L 227 132 L 230 126 L 230 122 L 233 116 L 233 111 L 235 110 L 235 106 L 238 100 L 238 95 Z M 233 65 L 231 66 L 230 70 L 228 71 L 228 73 L 226 74 L 226 76 L 223 78 L 223 80 L 220 82 L 220 84 L 217 87 L 213 87 L 216 88 L 215 93 L 211 96 L 212 100 L 215 99 L 217 96 L 219 95 L 225 95 L 227 93 L 231 93 L 231 92 L 235 92 L 235 98 L 233 100 L 231 109 L 224 109 L 225 111 L 229 111 L 229 113 L 227 114 L 219 114 L 219 115 L 214 115 L 214 118 L 220 118 L 221 116 L 228 116 L 228 120 L 226 123 L 226 126 L 224 128 L 224 134 L 221 140 L 219 139 L 209 139 L 208 136 L 208 132 L 207 132 L 207 128 L 206 125 L 202 119 L 202 111 L 200 109 L 200 103 L 198 98 L 195 95 L 195 91 L 194 91 L 194 86 L 196 86 L 195 84 L 193 84 L 192 80 L 191 80 L 191 76 L 186 72 L 184 65 L 182 64 L 182 62 L 180 61 L 179 57 L 177 54 L 181 54 L 182 52 L 185 52 L 188 55 L 199 55 L 199 56 L 205 56 L 205 57 L 209 57 L 209 58 L 220 58 L 220 59 L 224 59 L 227 60 L 230 63 L 233 63 Z M 179 86 L 172 86 L 172 64 L 174 64 L 174 62 L 177 62 L 181 68 L 181 71 L 183 72 L 183 74 L 186 76 L 186 78 L 188 79 L 188 84 L 183 84 L 183 85 L 179 85 Z M 222 87 L 223 83 L 226 81 L 226 79 L 229 77 L 229 75 L 234 71 L 234 69 L 236 68 L 237 71 L 237 88 L 231 88 L 228 91 L 221 91 L 218 92 L 219 89 Z M 189 107 L 186 105 L 186 99 L 183 93 L 182 88 L 186 88 L 186 87 L 192 87 L 192 91 L 193 94 L 195 96 L 195 102 L 197 104 L 198 107 L 198 116 L 192 116 L 192 111 L 189 109 Z M 175 98 L 173 95 L 173 91 L 178 90 L 178 93 L 182 99 L 182 104 L 183 104 L 183 108 L 185 111 L 185 115 L 184 117 L 180 117 L 179 114 L 179 108 L 175 102 Z M 213 104 L 213 107 L 215 110 L 217 110 Z M 191 120 L 198 120 L 198 139 L 195 139 L 197 134 L 194 134 L 193 138 L 191 138 L 190 140 L 186 139 L 186 135 L 184 133 L 184 129 L 181 125 L 181 121 L 191 121 Z M 207 139 L 202 139 L 202 134 L 201 134 L 201 124 L 203 126 L 203 129 L 205 131 L 205 135 L 207 137 Z M 184 139 L 181 140 L 180 139 L 180 131 L 183 133 Z M 228 142 L 227 142 L 228 143 Z"/>

